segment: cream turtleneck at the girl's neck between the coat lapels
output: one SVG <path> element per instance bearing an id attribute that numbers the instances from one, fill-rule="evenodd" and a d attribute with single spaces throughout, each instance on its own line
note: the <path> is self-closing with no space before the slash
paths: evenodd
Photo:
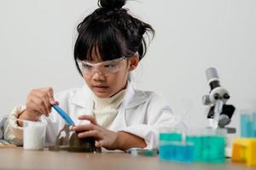
<path id="1" fill-rule="evenodd" d="M 99 98 L 94 95 L 93 113 L 96 122 L 102 127 L 109 127 L 119 112 L 119 107 L 125 96 L 125 89 L 110 98 Z"/>

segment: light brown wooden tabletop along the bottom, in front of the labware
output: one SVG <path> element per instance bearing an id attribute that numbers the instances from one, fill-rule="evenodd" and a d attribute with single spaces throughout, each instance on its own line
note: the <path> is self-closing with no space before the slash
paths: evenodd
<path id="1" fill-rule="evenodd" d="M 245 164 L 178 163 L 160 161 L 158 156 L 131 156 L 124 152 L 73 153 L 67 151 L 0 149 L 0 169 L 90 169 L 90 170 L 244 170 L 256 169 Z"/>

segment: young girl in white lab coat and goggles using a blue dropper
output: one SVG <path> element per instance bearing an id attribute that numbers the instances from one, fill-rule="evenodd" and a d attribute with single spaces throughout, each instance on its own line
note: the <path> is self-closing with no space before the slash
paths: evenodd
<path id="1" fill-rule="evenodd" d="M 22 144 L 22 122 L 48 122 L 46 140 L 55 138 L 65 122 L 51 105 L 58 104 L 74 120 L 79 138 L 94 137 L 96 147 L 127 150 L 158 147 L 160 132 L 176 125 L 170 106 L 153 92 L 136 90 L 129 74 L 146 53 L 144 35 L 154 29 L 122 8 L 125 0 L 99 0 L 99 8 L 78 26 L 74 61 L 86 85 L 55 94 L 34 89 L 26 106 L 17 106 L 5 124 L 5 139 Z M 83 122 L 83 123 L 81 123 Z"/>

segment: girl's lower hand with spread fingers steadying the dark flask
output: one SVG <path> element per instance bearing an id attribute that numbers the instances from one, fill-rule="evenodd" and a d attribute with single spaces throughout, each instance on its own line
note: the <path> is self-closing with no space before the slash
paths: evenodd
<path id="1" fill-rule="evenodd" d="M 72 127 L 72 130 L 79 133 L 79 138 L 94 137 L 96 147 L 104 147 L 108 150 L 118 149 L 118 133 L 97 125 L 95 116 L 83 115 L 79 116 L 79 120 L 90 121 L 89 124 Z"/>

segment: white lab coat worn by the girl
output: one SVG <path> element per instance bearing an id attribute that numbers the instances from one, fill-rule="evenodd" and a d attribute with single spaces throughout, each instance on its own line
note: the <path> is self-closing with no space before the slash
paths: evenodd
<path id="1" fill-rule="evenodd" d="M 55 95 L 55 100 L 60 102 L 60 107 L 66 111 L 75 124 L 81 123 L 78 116 L 92 115 L 93 100 L 92 92 L 87 86 L 73 88 Z M 54 110 L 49 117 L 42 116 L 42 121 L 48 122 L 46 129 L 46 141 L 55 144 L 55 138 L 65 122 Z M 172 132 L 177 125 L 177 116 L 173 116 L 171 107 L 166 100 L 153 92 L 145 92 L 133 88 L 132 83 L 128 87 L 124 100 L 119 107 L 119 112 L 108 129 L 124 131 L 143 138 L 148 149 L 155 149 L 159 144 L 160 132 Z M 88 122 L 82 122 L 88 123 Z M 17 133 L 22 130 L 14 127 L 14 123 L 7 124 L 5 139 L 12 140 L 22 136 Z M 17 135 L 14 135 L 14 130 Z M 12 134 L 9 134 L 12 133 Z M 21 132 L 20 132 L 21 133 Z M 16 141 L 18 141 L 16 139 Z"/>

